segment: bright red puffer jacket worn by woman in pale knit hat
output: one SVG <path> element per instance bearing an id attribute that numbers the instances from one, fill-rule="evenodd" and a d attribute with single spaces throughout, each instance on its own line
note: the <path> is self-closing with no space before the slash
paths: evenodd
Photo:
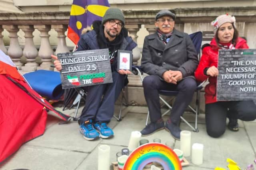
<path id="1" fill-rule="evenodd" d="M 248 49 L 248 45 L 246 41 L 240 37 L 238 37 L 236 49 Z M 218 65 L 218 48 L 215 39 L 212 39 L 210 46 L 204 47 L 202 51 L 202 57 L 200 59 L 198 68 L 195 71 L 195 77 L 198 82 L 203 82 L 207 78 L 209 78 L 209 84 L 205 87 L 205 104 L 210 104 L 217 102 L 216 100 L 216 77 L 206 76 L 204 74 L 204 69 L 206 67 L 216 66 Z"/>

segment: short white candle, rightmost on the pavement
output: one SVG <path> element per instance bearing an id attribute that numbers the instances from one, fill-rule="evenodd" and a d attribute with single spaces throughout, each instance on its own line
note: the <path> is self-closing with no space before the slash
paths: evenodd
<path id="1" fill-rule="evenodd" d="M 195 165 L 203 163 L 204 145 L 201 143 L 194 143 L 192 145 L 191 162 Z"/>

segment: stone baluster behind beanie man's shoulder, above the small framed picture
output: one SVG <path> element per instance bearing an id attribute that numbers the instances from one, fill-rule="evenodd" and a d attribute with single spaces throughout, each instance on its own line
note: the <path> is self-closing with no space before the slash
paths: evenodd
<path id="1" fill-rule="evenodd" d="M 137 32 L 139 31 L 140 27 L 137 24 L 132 24 L 132 25 L 126 25 L 125 26 L 126 29 L 129 31 L 130 36 L 132 37 L 132 39 L 137 43 Z M 140 49 L 138 47 L 134 48 L 132 50 L 132 54 L 133 54 L 133 64 L 137 65 L 138 64 L 138 60 L 140 59 Z"/>

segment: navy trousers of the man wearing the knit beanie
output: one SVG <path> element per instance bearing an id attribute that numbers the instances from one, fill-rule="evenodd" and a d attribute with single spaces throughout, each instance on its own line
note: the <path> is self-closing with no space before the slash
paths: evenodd
<path id="1" fill-rule="evenodd" d="M 110 122 L 114 115 L 115 102 L 124 87 L 125 76 L 118 72 L 112 72 L 112 83 L 86 87 L 86 104 L 80 117 L 81 122 L 88 119 L 92 119 L 94 122 Z M 104 95 L 103 98 L 102 95 Z"/>

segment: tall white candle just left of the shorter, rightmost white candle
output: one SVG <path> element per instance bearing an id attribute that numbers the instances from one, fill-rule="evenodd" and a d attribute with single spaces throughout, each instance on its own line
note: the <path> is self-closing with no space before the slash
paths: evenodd
<path id="1" fill-rule="evenodd" d="M 190 156 L 191 150 L 191 132 L 181 131 L 180 132 L 180 150 L 183 151 L 183 156 Z"/>

